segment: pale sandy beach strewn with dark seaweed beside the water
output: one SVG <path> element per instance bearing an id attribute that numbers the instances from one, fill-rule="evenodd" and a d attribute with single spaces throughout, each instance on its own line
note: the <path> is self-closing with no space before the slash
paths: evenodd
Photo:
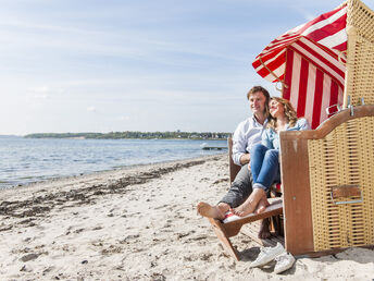
<path id="1" fill-rule="evenodd" d="M 373 280 L 374 251 L 249 268 L 259 245 L 222 248 L 199 200 L 228 188 L 226 155 L 140 166 L 0 192 L 0 280 Z"/>

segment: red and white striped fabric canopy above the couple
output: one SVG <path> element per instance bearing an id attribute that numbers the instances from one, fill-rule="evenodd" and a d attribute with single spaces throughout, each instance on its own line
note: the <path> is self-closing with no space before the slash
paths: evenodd
<path id="1" fill-rule="evenodd" d="M 346 20 L 347 5 L 322 14 L 273 40 L 252 63 L 265 80 L 283 83 L 283 97 L 312 129 L 328 118 L 326 108 L 342 103 Z"/>

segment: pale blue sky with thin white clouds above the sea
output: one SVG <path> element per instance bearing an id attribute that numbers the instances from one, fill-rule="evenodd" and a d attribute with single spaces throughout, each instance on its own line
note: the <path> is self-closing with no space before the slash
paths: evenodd
<path id="1" fill-rule="evenodd" d="M 253 85 L 279 95 L 257 54 L 341 1 L 0 3 L 0 135 L 25 135 L 233 132 Z"/>

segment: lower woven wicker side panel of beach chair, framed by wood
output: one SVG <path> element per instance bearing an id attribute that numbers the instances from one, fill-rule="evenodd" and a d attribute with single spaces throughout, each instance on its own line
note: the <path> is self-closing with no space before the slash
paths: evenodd
<path id="1" fill-rule="evenodd" d="M 350 120 L 308 140 L 314 251 L 374 244 L 374 117 Z M 360 195 L 332 198 L 336 186 Z"/>

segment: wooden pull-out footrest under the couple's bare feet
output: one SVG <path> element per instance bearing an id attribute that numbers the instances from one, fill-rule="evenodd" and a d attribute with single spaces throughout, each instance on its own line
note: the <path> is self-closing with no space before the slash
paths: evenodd
<path id="1" fill-rule="evenodd" d="M 271 201 L 271 205 L 261 213 L 251 213 L 250 216 L 246 218 L 232 221 L 228 223 L 223 223 L 217 219 L 211 219 L 211 218 L 209 218 L 209 221 L 212 224 L 216 236 L 219 237 L 224 248 L 228 252 L 228 254 L 233 256 L 236 260 L 240 260 L 239 253 L 233 246 L 232 242 L 229 241 L 229 237 L 237 235 L 241 227 L 246 223 L 271 218 L 280 213 L 283 213 L 283 203 L 282 203 L 282 199 L 276 199 L 276 200 Z M 255 239 L 255 241 L 258 241 L 258 239 Z"/>

